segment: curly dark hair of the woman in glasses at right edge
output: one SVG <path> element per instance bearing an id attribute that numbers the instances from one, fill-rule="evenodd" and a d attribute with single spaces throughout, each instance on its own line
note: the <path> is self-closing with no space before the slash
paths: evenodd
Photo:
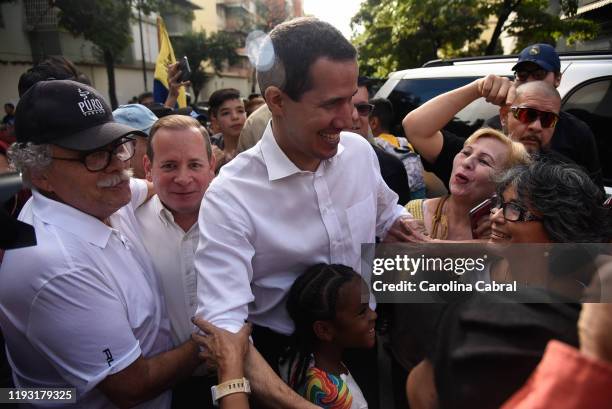
<path id="1" fill-rule="evenodd" d="M 519 201 L 542 215 L 551 241 L 604 243 L 612 239 L 612 213 L 604 194 L 578 166 L 539 158 L 502 175 L 497 194 L 516 189 Z"/>

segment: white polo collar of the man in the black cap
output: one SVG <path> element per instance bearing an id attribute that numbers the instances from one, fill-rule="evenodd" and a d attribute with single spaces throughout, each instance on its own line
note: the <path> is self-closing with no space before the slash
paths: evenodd
<path id="1" fill-rule="evenodd" d="M 106 247 L 113 229 L 99 219 L 32 189 L 32 212 L 47 224 L 66 230 L 100 248 Z"/>

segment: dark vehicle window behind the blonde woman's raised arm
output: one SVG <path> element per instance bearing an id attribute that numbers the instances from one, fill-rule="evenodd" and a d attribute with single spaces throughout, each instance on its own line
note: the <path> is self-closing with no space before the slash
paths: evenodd
<path id="1" fill-rule="evenodd" d="M 406 114 L 430 99 L 447 91 L 462 87 L 479 77 L 419 78 L 400 80 L 387 97 L 395 110 L 396 135 L 404 135 L 402 119 Z M 457 113 L 445 129 L 467 138 L 484 122 L 499 113 L 499 108 L 480 98 Z"/>

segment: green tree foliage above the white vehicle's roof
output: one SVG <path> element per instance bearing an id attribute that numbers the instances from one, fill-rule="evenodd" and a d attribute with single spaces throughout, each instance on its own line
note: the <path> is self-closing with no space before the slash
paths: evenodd
<path id="1" fill-rule="evenodd" d="M 353 42 L 361 72 L 386 77 L 436 58 L 500 53 L 504 32 L 516 36 L 515 51 L 534 42 L 554 44 L 561 36 L 570 42 L 592 38 L 593 22 L 558 15 L 573 16 L 577 0 L 560 3 L 554 13 L 548 0 L 366 0 L 352 20 L 363 29 Z M 482 40 L 491 19 L 493 34 Z"/>

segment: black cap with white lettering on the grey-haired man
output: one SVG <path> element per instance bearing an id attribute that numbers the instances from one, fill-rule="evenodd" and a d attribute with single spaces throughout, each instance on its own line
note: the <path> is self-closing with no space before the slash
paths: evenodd
<path id="1" fill-rule="evenodd" d="M 76 151 L 101 148 L 144 132 L 115 122 L 113 111 L 94 88 L 70 80 L 41 81 L 19 100 L 17 142 L 53 144 Z"/>

